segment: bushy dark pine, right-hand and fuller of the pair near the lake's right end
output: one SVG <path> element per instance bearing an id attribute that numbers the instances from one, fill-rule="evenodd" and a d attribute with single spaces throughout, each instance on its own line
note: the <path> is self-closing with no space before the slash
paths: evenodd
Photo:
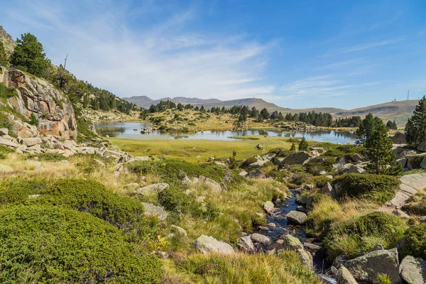
<path id="1" fill-rule="evenodd" d="M 366 154 L 370 158 L 370 163 L 366 166 L 367 170 L 377 175 L 386 173 L 388 166 L 395 160 L 392 155 L 392 147 L 393 144 L 388 136 L 388 130 L 381 121 L 381 123 L 376 124 L 364 142 Z"/>

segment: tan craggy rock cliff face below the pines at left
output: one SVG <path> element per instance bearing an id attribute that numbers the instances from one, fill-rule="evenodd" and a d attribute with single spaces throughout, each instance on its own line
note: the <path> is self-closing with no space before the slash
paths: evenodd
<path id="1" fill-rule="evenodd" d="M 27 75 L 15 68 L 0 67 L 0 83 L 13 89 L 16 96 L 7 104 L 26 119 L 35 114 L 40 122 L 37 129 L 11 117 L 13 132 L 22 138 L 53 135 L 63 139 L 77 138 L 77 123 L 72 105 L 58 89 L 43 79 Z"/>

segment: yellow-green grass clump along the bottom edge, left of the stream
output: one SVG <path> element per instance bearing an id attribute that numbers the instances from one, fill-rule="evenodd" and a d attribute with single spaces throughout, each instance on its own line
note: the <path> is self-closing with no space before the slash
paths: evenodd
<path id="1" fill-rule="evenodd" d="M 277 255 L 237 253 L 193 254 L 178 261 L 178 267 L 195 277 L 196 283 L 320 283 L 293 251 Z"/>

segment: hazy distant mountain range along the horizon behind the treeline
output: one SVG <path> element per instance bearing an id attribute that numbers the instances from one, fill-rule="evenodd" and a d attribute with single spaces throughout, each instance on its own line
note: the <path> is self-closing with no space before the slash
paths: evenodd
<path id="1" fill-rule="evenodd" d="M 333 107 L 314 107 L 309 109 L 289 109 L 285 107 L 278 107 L 276 104 L 266 102 L 263 99 L 232 99 L 229 101 L 221 101 L 219 99 L 197 99 L 197 98 L 185 98 L 185 97 L 175 97 L 164 98 L 153 100 L 146 96 L 141 97 L 130 97 L 123 98 L 128 102 L 132 102 L 133 104 L 138 105 L 139 107 L 148 108 L 151 104 L 158 104 L 161 100 L 171 100 L 175 103 L 181 104 L 192 104 L 195 107 L 201 107 L 202 105 L 206 109 L 211 109 L 212 107 L 225 107 L 226 109 L 230 109 L 235 105 L 239 106 L 248 106 L 249 108 L 256 107 L 256 109 L 261 110 L 263 108 L 268 109 L 268 111 L 281 111 L 283 114 L 296 114 L 300 112 L 308 112 L 308 111 L 316 111 L 316 112 L 327 112 L 332 114 L 335 118 L 338 117 L 349 117 L 349 116 L 361 116 L 364 118 L 366 114 L 370 113 L 374 116 L 378 116 L 383 121 L 395 120 L 398 126 L 403 126 L 407 122 L 408 117 L 413 114 L 415 106 L 417 105 L 417 100 L 409 100 L 409 101 L 397 101 L 397 102 L 386 102 L 384 104 L 376 104 L 368 107 L 361 107 L 358 109 L 336 109 Z"/>

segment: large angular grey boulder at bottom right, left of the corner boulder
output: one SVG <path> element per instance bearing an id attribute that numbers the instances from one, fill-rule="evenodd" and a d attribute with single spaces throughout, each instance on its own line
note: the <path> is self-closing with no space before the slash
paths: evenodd
<path id="1" fill-rule="evenodd" d="M 346 261 L 344 266 L 348 268 L 356 280 L 366 283 L 376 283 L 379 274 L 388 275 L 392 283 L 402 283 L 398 270 L 397 249 L 370 251 L 364 256 Z"/>

